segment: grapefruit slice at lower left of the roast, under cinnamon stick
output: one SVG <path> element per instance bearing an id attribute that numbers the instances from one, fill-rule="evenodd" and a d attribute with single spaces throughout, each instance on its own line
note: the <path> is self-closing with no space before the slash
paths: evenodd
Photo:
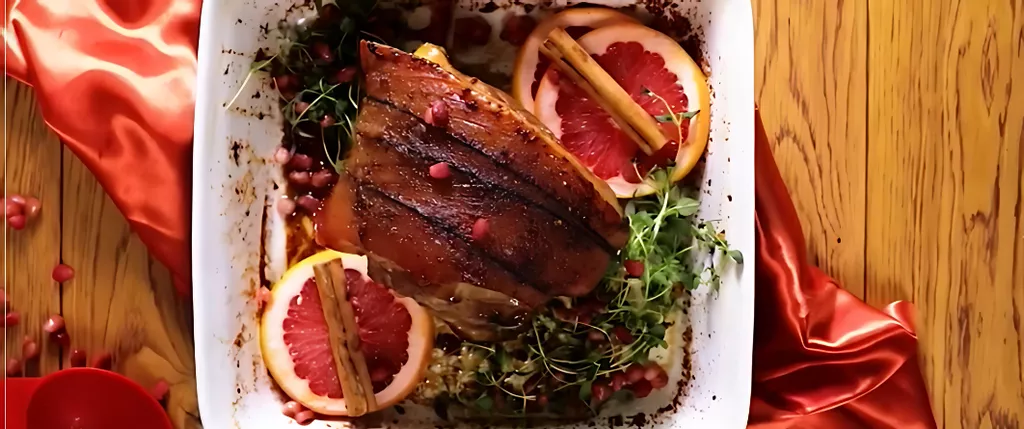
<path id="1" fill-rule="evenodd" d="M 270 291 L 260 325 L 263 361 L 292 399 L 323 415 L 347 415 L 313 274 L 313 266 L 334 259 L 345 267 L 378 409 L 391 406 L 423 379 L 433 348 L 433 319 L 413 299 L 398 298 L 372 281 L 366 257 L 324 251 L 285 273 Z"/>

